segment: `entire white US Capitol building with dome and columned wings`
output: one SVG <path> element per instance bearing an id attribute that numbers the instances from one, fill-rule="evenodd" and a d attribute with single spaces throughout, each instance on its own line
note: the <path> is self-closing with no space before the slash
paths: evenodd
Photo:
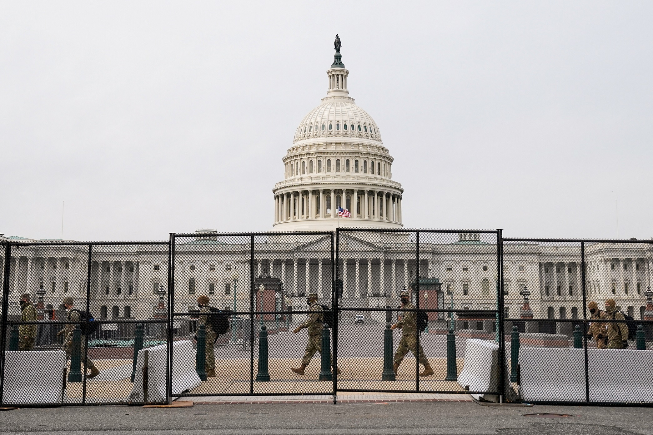
<path id="1" fill-rule="evenodd" d="M 283 180 L 272 190 L 275 231 L 403 227 L 404 189 L 392 179 L 394 159 L 377 123 L 349 97 L 348 81 L 349 70 L 336 39 L 334 62 L 327 70 L 327 95 L 296 128 L 293 145 L 283 157 Z M 338 207 L 351 217 L 339 217 Z M 224 243 L 215 233 L 198 230 L 195 240 L 179 240 L 176 245 L 176 312 L 196 308 L 199 294 L 209 295 L 215 307 L 232 309 L 235 303 L 236 310 L 249 309 L 249 243 Z M 423 235 L 419 276 L 438 278 L 443 292 L 421 301 L 422 307 L 442 308 L 443 303 L 449 307 L 444 292 L 453 293 L 454 308 L 459 310 L 496 307 L 496 241 L 486 236 L 475 232 Z M 0 242 L 4 241 L 38 242 L 0 235 Z M 519 316 L 520 290 L 527 286 L 535 318 L 582 318 L 579 246 L 504 246 L 506 316 Z M 284 284 L 285 295 L 278 298 L 278 305 L 305 309 L 305 295 L 311 291 L 328 303 L 327 237 L 270 235 L 257 239 L 255 252 L 255 276 L 270 275 Z M 155 315 L 159 290 L 167 285 L 167 258 L 163 245 L 95 245 L 93 314 L 97 318 Z M 588 301 L 601 304 L 611 297 L 624 312 L 641 318 L 652 259 L 650 246 L 643 244 L 588 244 Z M 85 305 L 87 261 L 83 245 L 13 248 L 10 311 L 19 312 L 21 293 L 29 292 L 37 300 L 39 290 L 44 290 L 39 293 L 50 307 L 59 307 L 66 295 L 74 297 L 78 307 Z M 398 292 L 404 286 L 410 288 L 418 275 L 416 266 L 415 241 L 409 233 L 341 233 L 343 305 L 397 307 Z"/>

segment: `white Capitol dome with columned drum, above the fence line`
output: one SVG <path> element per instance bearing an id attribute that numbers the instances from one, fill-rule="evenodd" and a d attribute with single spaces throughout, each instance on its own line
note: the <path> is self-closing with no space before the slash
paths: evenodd
<path id="1" fill-rule="evenodd" d="M 283 157 L 274 228 L 401 228 L 404 189 L 392 180 L 394 158 L 374 119 L 349 97 L 340 52 L 327 76 L 327 96 L 302 119 Z"/>

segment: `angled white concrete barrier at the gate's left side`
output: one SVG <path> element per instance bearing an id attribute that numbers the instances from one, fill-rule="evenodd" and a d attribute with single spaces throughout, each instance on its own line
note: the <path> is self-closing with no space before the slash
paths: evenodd
<path id="1" fill-rule="evenodd" d="M 166 398 L 167 380 L 165 377 L 167 345 L 159 344 L 138 351 L 134 387 L 127 398 L 128 402 L 144 402 L 143 367 L 144 353 L 148 351 L 148 402 L 163 402 Z M 195 349 L 193 342 L 176 341 L 172 344 L 172 394 L 193 389 L 202 381 L 195 371 Z"/>

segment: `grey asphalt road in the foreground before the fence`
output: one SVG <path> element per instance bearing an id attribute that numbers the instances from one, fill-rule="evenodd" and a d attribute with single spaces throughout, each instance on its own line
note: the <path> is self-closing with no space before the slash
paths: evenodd
<path id="1" fill-rule="evenodd" d="M 87 406 L 2 411 L 0 434 L 622 435 L 653 434 L 651 415 L 650 408 L 490 407 L 473 402 L 230 404 L 156 409 Z"/>

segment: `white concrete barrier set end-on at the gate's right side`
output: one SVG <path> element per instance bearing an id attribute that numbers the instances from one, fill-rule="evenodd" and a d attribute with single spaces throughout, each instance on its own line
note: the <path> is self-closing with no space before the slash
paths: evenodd
<path id="1" fill-rule="evenodd" d="M 458 375 L 458 383 L 469 391 L 498 391 L 498 355 L 499 345 L 496 343 L 468 338 L 465 344 L 465 357 L 462 371 Z M 503 380 L 505 381 L 505 393 L 512 394 L 509 384 L 508 373 L 503 365 Z M 472 397 L 496 402 L 496 395 L 474 394 Z"/>

